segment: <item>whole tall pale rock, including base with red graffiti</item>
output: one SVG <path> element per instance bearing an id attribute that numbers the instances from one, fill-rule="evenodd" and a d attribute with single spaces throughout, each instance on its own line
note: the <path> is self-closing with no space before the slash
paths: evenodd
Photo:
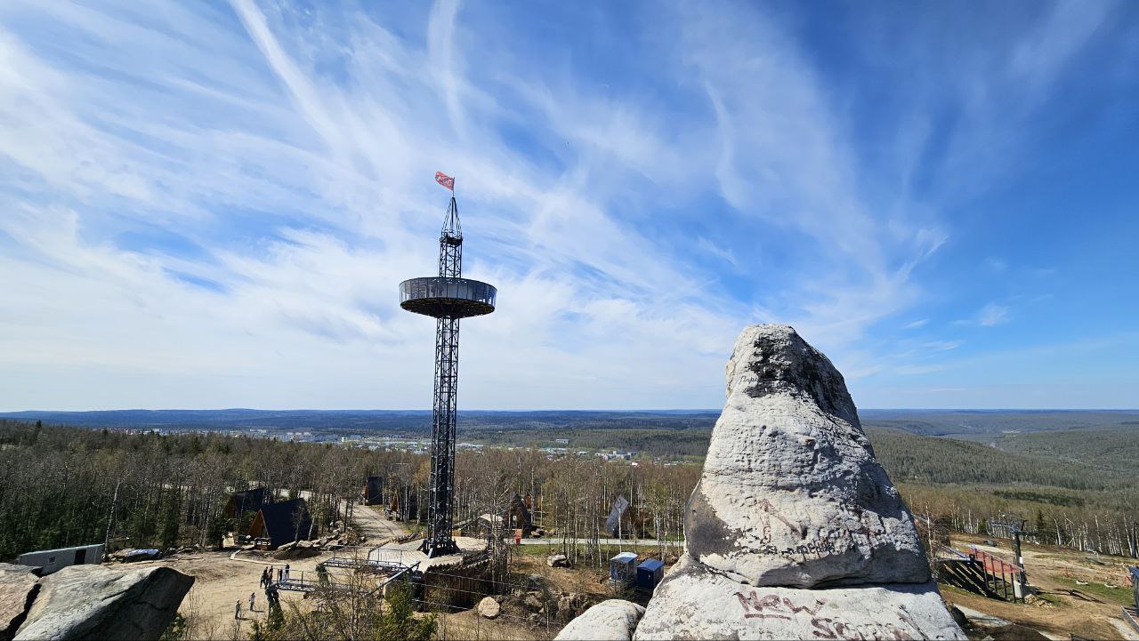
<path id="1" fill-rule="evenodd" d="M 633 639 L 966 638 L 842 375 L 788 326 L 736 340 L 685 534 Z"/>

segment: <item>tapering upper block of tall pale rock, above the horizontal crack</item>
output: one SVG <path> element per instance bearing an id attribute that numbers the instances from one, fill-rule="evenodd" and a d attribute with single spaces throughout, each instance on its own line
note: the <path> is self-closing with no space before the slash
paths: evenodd
<path id="1" fill-rule="evenodd" d="M 691 557 L 751 585 L 929 581 L 842 375 L 788 326 L 736 340 L 685 527 Z"/>

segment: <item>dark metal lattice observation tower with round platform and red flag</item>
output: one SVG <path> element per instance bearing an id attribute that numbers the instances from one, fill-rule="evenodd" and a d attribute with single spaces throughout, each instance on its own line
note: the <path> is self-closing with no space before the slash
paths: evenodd
<path id="1" fill-rule="evenodd" d="M 454 179 L 435 174 L 451 189 L 451 203 L 439 236 L 439 276 L 400 283 L 400 306 L 435 318 L 435 400 L 431 419 L 431 503 L 427 539 L 420 548 L 428 557 L 458 551 L 451 537 L 454 502 L 454 420 L 459 386 L 459 319 L 494 311 L 498 290 L 462 278 L 462 228 L 454 202 Z"/>

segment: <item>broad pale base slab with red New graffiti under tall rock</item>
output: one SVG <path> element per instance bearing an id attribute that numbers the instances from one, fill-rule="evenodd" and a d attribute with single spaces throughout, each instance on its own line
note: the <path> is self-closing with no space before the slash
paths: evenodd
<path id="1" fill-rule="evenodd" d="M 633 639 L 966 636 L 932 582 L 816 590 L 753 587 L 682 557 L 657 586 Z"/>

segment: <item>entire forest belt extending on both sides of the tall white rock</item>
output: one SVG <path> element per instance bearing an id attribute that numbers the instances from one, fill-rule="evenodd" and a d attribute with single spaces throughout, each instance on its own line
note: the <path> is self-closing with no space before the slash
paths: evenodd
<path id="1" fill-rule="evenodd" d="M 599 539 L 607 536 L 601 525 L 617 496 L 632 503 L 625 533 L 673 542 L 682 536 L 685 503 L 700 467 L 656 454 L 685 452 L 696 460 L 708 437 L 706 429 L 558 434 L 571 438 L 571 450 L 584 443 L 638 450 L 632 466 L 593 455 L 549 460 L 536 449 L 542 441 L 534 432 L 493 434 L 530 445 L 459 453 L 456 523 L 498 511 L 515 493 L 528 495 L 535 517 L 555 536 L 591 541 L 566 545 L 566 552 L 593 562 L 601 560 Z M 1103 465 L 1103 447 L 1115 443 L 1111 438 L 1105 437 L 1106 445 L 1076 446 L 1066 441 L 1071 432 L 1030 434 L 1014 452 L 891 428 L 868 427 L 867 434 L 916 513 L 972 533 L 1014 515 L 1027 520 L 1032 539 L 1040 542 L 1139 557 L 1133 511 L 1139 480 Z M 425 455 L 0 420 L 0 560 L 105 540 L 112 549 L 216 545 L 223 533 L 240 525 L 223 516 L 229 493 L 254 485 L 280 496 L 304 496 L 318 527 L 325 528 L 354 509 L 369 475 L 382 476 L 388 493 L 402 498 L 401 510 L 410 509 L 411 520 L 423 516 L 426 501 L 417 499 L 427 485 Z M 667 552 L 675 543 L 663 545 Z"/>

